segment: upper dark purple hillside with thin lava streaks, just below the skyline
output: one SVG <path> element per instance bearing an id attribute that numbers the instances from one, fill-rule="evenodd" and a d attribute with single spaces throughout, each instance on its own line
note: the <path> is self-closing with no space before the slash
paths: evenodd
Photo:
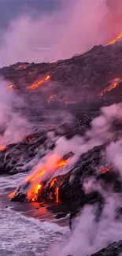
<path id="1" fill-rule="evenodd" d="M 0 69 L 27 98 L 31 115 L 45 109 L 97 110 L 121 101 L 122 43 L 94 46 L 87 53 L 54 63 L 17 63 Z M 33 110 L 33 111 L 32 111 Z M 43 114 L 42 114 L 43 115 Z"/>

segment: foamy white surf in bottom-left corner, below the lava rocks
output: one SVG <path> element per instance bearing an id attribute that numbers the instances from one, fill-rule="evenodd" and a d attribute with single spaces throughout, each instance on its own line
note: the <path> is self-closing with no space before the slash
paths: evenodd
<path id="1" fill-rule="evenodd" d="M 50 246 L 68 236 L 68 228 L 24 217 L 10 208 L 1 210 L 0 255 L 46 256 Z"/>

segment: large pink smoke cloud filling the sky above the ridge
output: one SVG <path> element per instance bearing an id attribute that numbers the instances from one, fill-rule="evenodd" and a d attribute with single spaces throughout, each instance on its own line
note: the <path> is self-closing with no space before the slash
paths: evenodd
<path id="1" fill-rule="evenodd" d="M 105 0 L 59 0 L 54 13 L 21 14 L 2 35 L 0 66 L 17 61 L 55 61 L 82 54 L 95 44 L 104 43 L 102 20 Z"/>

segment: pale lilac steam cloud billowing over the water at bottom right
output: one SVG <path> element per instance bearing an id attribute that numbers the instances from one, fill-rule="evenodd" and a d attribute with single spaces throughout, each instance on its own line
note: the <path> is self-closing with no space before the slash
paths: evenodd
<path id="1" fill-rule="evenodd" d="M 79 221 L 65 246 L 52 249 L 50 255 L 87 256 L 118 241 L 122 236 L 121 220 L 116 220 L 116 209 L 121 200 L 118 195 L 106 193 L 105 206 L 100 221 L 95 221 L 97 206 L 85 206 Z"/>

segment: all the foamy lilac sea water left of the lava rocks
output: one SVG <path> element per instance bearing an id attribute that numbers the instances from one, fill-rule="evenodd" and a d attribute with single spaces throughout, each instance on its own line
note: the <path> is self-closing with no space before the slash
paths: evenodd
<path id="1" fill-rule="evenodd" d="M 0 178 L 0 256 L 46 256 L 68 236 L 68 227 L 13 210 L 7 195 L 23 178 L 24 174 Z"/>

